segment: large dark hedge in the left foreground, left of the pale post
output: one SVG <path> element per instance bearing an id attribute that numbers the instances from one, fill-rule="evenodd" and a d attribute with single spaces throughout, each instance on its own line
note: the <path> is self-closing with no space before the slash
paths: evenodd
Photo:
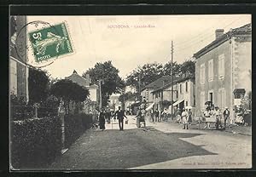
<path id="1" fill-rule="evenodd" d="M 42 168 L 61 154 L 60 117 L 13 121 L 10 129 L 10 155 L 14 169 Z"/>

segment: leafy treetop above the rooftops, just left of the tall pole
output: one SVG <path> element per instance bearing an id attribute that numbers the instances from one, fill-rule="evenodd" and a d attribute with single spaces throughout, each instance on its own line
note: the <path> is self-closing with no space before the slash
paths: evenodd
<path id="1" fill-rule="evenodd" d="M 134 88 L 139 87 L 139 77 L 141 82 L 141 88 L 148 85 L 148 83 L 154 82 L 156 79 L 162 77 L 163 66 L 159 63 L 148 63 L 144 66 L 138 66 L 132 73 L 126 77 L 127 85 Z"/>

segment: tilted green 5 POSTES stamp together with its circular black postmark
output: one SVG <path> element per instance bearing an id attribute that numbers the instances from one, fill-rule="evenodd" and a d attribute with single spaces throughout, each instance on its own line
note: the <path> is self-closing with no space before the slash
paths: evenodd
<path id="1" fill-rule="evenodd" d="M 73 54 L 74 48 L 67 23 L 52 25 L 35 20 L 17 29 L 15 39 L 17 58 L 26 66 L 49 66 L 60 56 Z"/>

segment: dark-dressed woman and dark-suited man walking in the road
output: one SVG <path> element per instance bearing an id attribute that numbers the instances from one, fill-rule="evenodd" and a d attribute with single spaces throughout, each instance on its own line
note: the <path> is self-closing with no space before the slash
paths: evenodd
<path id="1" fill-rule="evenodd" d="M 115 112 L 111 111 L 108 108 L 102 108 L 99 113 L 99 127 L 101 130 L 105 130 L 105 124 L 106 121 L 110 123 L 111 118 L 115 120 L 116 118 L 119 120 L 119 130 L 124 130 L 124 117 L 125 111 L 121 110 L 121 107 L 119 106 L 119 109 Z"/>

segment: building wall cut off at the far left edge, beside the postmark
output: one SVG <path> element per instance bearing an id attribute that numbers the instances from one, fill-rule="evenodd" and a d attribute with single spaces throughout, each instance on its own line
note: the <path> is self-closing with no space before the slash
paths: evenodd
<path id="1" fill-rule="evenodd" d="M 28 101 L 25 25 L 26 16 L 10 17 L 9 92 Z"/>

